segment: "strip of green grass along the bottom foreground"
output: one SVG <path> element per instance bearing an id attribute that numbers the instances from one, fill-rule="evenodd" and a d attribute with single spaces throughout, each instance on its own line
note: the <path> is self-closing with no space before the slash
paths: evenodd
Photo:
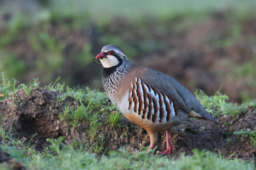
<path id="1" fill-rule="evenodd" d="M 12 147 L 1 146 L 1 148 L 10 153 L 12 158 L 22 161 L 24 165 L 30 169 L 45 170 L 68 170 L 68 169 L 106 169 L 106 170 L 148 170 L 148 169 L 175 169 L 175 170 L 254 170 L 252 162 L 243 162 L 238 159 L 226 160 L 221 155 L 211 153 L 209 151 L 193 150 L 192 156 L 184 156 L 180 154 L 180 158 L 173 156 L 157 156 L 152 152 L 146 154 L 146 149 L 142 149 L 138 153 L 130 152 L 125 148 L 118 151 L 109 151 L 108 156 L 96 156 L 80 149 L 73 149 L 72 145 L 64 145 L 60 137 L 57 140 L 47 139 L 52 143 L 50 150 L 44 150 L 42 153 L 31 148 L 26 148 L 23 143 L 15 144 Z M 62 149 L 60 150 L 60 146 Z M 8 167 L 0 163 L 0 170 L 8 170 Z"/>

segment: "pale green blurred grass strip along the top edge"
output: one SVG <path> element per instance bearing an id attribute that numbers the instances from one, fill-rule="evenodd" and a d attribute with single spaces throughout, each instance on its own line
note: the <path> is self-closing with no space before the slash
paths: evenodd
<path id="1" fill-rule="evenodd" d="M 57 14 L 64 16 L 91 14 L 94 18 L 106 19 L 115 16 L 128 16 L 136 20 L 138 18 L 145 18 L 145 15 L 152 18 L 170 18 L 176 16 L 199 17 L 200 14 L 205 15 L 211 11 L 222 10 L 235 10 L 238 15 L 243 16 L 245 15 L 244 13 L 254 10 L 253 6 L 255 5 L 254 0 L 248 0 L 246 2 L 239 0 L 216 0 L 214 2 L 210 0 L 194 0 L 193 2 L 189 0 L 162 0 L 160 2 L 154 0 L 130 0 L 127 2 L 116 0 L 109 0 L 107 2 L 103 0 L 54 0 L 51 2 L 50 8 Z"/>

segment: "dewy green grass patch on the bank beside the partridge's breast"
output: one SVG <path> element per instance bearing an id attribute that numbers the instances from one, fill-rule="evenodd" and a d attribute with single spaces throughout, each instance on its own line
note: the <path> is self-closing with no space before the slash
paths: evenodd
<path id="1" fill-rule="evenodd" d="M 62 104 L 67 96 L 72 98 L 72 101 L 76 101 L 78 105 L 72 109 L 69 104 L 66 104 L 63 113 L 59 114 L 60 119 L 66 124 L 76 127 L 82 121 L 92 123 L 95 119 L 99 119 L 98 113 L 100 113 L 103 118 L 106 117 L 106 122 L 111 127 L 120 126 L 119 120 L 122 118 L 120 111 L 112 103 L 108 103 L 108 96 L 105 93 L 98 90 L 90 90 L 90 88 L 84 90 L 79 87 L 67 87 L 66 92 L 58 96 L 57 100 Z"/>

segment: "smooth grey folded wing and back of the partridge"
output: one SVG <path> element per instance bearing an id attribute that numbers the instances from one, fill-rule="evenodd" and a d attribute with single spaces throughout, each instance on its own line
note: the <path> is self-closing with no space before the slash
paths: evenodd
<path id="1" fill-rule="evenodd" d="M 157 90 L 164 92 L 167 95 L 170 95 L 174 102 L 182 110 L 190 113 L 192 110 L 196 113 L 202 115 L 206 120 L 213 121 L 216 120 L 204 109 L 200 102 L 195 98 L 195 96 L 186 89 L 182 84 L 177 80 L 165 74 L 163 72 L 154 70 L 152 68 L 141 66 L 144 70 L 144 74 L 140 76 L 142 82 L 148 83 L 150 86 L 153 86 Z"/>

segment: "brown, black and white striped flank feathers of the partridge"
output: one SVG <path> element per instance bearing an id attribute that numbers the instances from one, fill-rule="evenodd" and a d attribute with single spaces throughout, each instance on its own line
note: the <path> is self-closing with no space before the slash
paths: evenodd
<path id="1" fill-rule="evenodd" d="M 177 116 L 178 109 L 173 99 L 161 91 L 142 82 L 140 77 L 132 81 L 128 110 L 134 109 L 142 119 L 166 123 Z"/>

